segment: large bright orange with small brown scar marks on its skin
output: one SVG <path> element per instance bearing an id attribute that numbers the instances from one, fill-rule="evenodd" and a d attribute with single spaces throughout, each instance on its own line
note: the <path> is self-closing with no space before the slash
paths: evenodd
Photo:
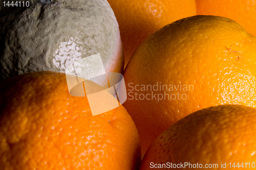
<path id="1" fill-rule="evenodd" d="M 127 89 L 123 106 L 135 122 L 144 155 L 161 132 L 190 113 L 222 104 L 255 107 L 256 38 L 228 18 L 188 17 L 148 37 L 123 76 Z M 140 90 L 141 85 L 157 83 L 168 89 Z M 152 92 L 156 94 L 153 100 Z M 164 96 L 164 92 L 169 100 L 166 96 L 158 102 L 157 95 Z M 150 100 L 139 100 L 139 95 L 143 99 L 147 93 Z M 172 94 L 175 100 L 170 99 Z"/>

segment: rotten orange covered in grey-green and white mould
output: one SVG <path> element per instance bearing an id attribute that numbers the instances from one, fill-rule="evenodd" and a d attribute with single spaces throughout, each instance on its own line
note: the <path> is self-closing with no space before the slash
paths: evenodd
<path id="1" fill-rule="evenodd" d="M 0 16 L 0 81 L 25 72 L 65 73 L 98 53 L 105 72 L 123 71 L 118 23 L 106 0 L 37 2 Z"/>

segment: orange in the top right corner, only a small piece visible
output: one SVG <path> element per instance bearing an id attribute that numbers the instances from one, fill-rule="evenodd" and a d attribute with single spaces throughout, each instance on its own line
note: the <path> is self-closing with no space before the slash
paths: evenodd
<path id="1" fill-rule="evenodd" d="M 198 15 L 217 15 L 237 21 L 256 36 L 256 2 L 254 0 L 196 0 Z"/>

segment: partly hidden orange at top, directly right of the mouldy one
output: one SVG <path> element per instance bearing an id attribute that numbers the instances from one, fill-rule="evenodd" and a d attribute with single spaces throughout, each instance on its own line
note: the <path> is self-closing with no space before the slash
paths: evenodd
<path id="1" fill-rule="evenodd" d="M 178 19 L 196 15 L 195 0 L 108 0 L 114 11 L 124 50 L 124 67 L 137 46 L 155 31 Z"/>

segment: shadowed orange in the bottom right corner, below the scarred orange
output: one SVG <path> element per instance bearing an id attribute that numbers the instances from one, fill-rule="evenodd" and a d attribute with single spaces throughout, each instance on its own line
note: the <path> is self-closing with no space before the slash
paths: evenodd
<path id="1" fill-rule="evenodd" d="M 241 105 L 210 107 L 182 118 L 161 133 L 147 150 L 140 170 L 152 169 L 151 162 L 158 165 L 189 162 L 202 164 L 202 167 L 218 164 L 214 169 L 230 169 L 229 163 L 233 169 L 233 163 L 241 165 L 242 162 L 245 168 L 245 162 L 250 162 L 252 168 L 252 162 L 256 161 L 255 143 L 255 108 Z M 226 168 L 221 168 L 221 163 L 225 162 Z M 248 164 L 247 168 L 250 169 Z M 195 168 L 186 166 L 183 169 Z"/>

